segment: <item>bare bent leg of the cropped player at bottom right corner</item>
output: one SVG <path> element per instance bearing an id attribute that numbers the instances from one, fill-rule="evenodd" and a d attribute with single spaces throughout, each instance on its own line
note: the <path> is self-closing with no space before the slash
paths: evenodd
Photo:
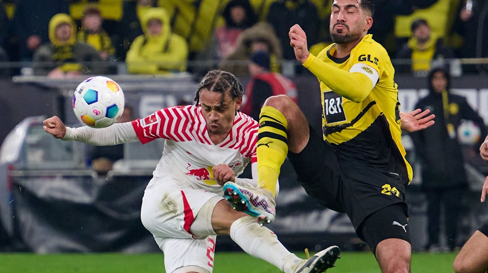
<path id="1" fill-rule="evenodd" d="M 456 273 L 483 273 L 488 270 L 488 237 L 475 231 L 454 259 Z"/>

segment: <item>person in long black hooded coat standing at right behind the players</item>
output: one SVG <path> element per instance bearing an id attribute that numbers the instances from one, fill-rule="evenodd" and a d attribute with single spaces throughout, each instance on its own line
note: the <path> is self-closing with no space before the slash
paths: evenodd
<path id="1" fill-rule="evenodd" d="M 466 98 L 450 90 L 450 76 L 446 69 L 433 69 L 428 75 L 429 95 L 420 99 L 415 108 L 429 109 L 436 116 L 428 130 L 411 134 L 415 151 L 422 166 L 422 189 L 427 195 L 428 243 L 430 251 L 441 251 L 439 244 L 440 209 L 444 206 L 447 247 L 457 247 L 457 224 L 462 195 L 468 185 L 461 144 L 457 132 L 461 120 L 472 120 L 486 136 L 486 127 Z M 480 143 L 475 147 L 479 147 Z"/>

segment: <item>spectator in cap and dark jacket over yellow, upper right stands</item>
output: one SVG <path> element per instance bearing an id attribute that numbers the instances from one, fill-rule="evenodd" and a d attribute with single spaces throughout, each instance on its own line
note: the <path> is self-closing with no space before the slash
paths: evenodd
<path id="1" fill-rule="evenodd" d="M 412 37 L 396 56 L 397 59 L 411 59 L 411 65 L 398 65 L 397 71 L 410 71 L 414 76 L 425 77 L 433 61 L 439 61 L 439 64 L 443 65 L 445 59 L 452 58 L 452 50 L 445 47 L 442 39 L 430 31 L 426 20 L 414 20 L 411 30 Z"/>

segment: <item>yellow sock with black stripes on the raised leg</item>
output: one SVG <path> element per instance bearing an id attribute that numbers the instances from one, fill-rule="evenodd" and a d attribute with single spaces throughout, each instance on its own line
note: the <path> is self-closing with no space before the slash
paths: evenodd
<path id="1" fill-rule="evenodd" d="M 258 142 L 258 186 L 276 195 L 276 183 L 280 169 L 288 154 L 288 122 L 276 108 L 264 106 L 259 115 Z"/>

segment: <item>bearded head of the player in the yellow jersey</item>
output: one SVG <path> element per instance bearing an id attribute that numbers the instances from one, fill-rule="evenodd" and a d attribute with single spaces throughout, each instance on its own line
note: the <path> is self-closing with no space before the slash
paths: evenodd
<path id="1" fill-rule="evenodd" d="M 334 0 L 330 13 L 330 37 L 338 44 L 363 38 L 373 19 L 361 8 L 359 0 Z"/>

